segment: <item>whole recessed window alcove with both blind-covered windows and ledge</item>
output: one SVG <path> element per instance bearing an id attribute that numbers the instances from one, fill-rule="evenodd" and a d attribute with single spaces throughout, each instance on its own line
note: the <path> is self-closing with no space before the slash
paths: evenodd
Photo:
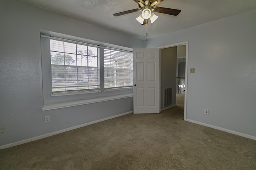
<path id="1" fill-rule="evenodd" d="M 111 61 L 110 65 L 105 65 L 106 68 L 110 71 L 112 66 L 116 67 L 109 72 L 116 74 L 106 77 L 106 80 L 104 78 L 104 49 L 106 54 L 109 53 L 107 61 Z M 132 97 L 131 51 L 132 49 L 128 47 L 81 37 L 50 31 L 41 33 L 44 102 L 42 110 Z M 130 66 L 124 60 L 126 57 L 128 57 Z M 128 75 L 120 76 L 123 70 L 126 70 Z M 106 75 L 110 74 L 106 72 Z M 104 80 L 106 84 L 108 80 L 111 80 L 112 84 L 108 87 L 114 89 L 104 90 Z M 122 88 L 128 86 L 129 88 Z"/>

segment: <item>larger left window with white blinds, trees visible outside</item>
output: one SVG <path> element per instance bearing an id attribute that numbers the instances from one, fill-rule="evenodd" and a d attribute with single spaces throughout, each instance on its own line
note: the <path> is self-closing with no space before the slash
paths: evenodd
<path id="1" fill-rule="evenodd" d="M 50 39 L 52 93 L 100 89 L 98 47 Z"/>

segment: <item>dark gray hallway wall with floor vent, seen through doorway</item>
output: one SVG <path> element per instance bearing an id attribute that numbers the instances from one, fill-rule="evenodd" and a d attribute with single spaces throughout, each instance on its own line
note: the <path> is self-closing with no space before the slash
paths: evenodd
<path id="1" fill-rule="evenodd" d="M 161 49 L 161 109 L 164 108 L 164 88 L 172 88 L 172 105 L 176 104 L 177 47 Z"/>

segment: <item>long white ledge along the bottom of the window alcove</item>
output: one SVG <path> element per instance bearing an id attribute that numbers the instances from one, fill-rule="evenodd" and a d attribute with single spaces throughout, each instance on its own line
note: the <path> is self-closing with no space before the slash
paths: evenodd
<path id="1" fill-rule="evenodd" d="M 92 104 L 92 103 L 98 103 L 98 102 L 105 102 L 105 101 L 109 101 L 109 100 L 130 98 L 130 97 L 133 97 L 133 94 L 121 94 L 121 95 L 108 96 L 108 97 L 102 97 L 102 98 L 84 99 L 84 100 L 60 102 L 60 103 L 54 103 L 54 104 L 45 104 L 42 107 L 42 111 L 52 110 L 52 109 L 60 109 L 60 108 L 64 108 L 64 107 L 80 106 L 80 105 L 84 105 L 84 104 Z"/>

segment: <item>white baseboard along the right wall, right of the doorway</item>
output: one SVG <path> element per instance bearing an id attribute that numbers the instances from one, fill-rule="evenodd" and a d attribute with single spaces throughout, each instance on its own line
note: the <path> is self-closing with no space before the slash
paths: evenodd
<path id="1" fill-rule="evenodd" d="M 246 137 L 246 138 L 249 138 L 249 139 L 252 139 L 252 140 L 256 141 L 256 137 L 255 136 L 251 136 L 251 135 L 247 135 L 247 134 L 244 134 L 244 133 L 232 131 L 232 130 L 225 129 L 225 128 L 218 127 L 218 126 L 214 126 L 214 125 L 209 125 L 209 124 L 202 123 L 202 122 L 199 122 L 199 121 L 194 121 L 194 120 L 191 120 L 191 119 L 186 119 L 185 121 L 188 121 L 188 122 L 191 122 L 191 123 L 196 123 L 198 125 L 203 125 L 203 126 L 206 126 L 206 127 L 211 127 L 213 129 L 217 129 L 217 130 L 220 130 L 220 131 L 232 133 L 234 135 L 238 135 L 238 136 L 241 136 L 241 137 Z"/>

